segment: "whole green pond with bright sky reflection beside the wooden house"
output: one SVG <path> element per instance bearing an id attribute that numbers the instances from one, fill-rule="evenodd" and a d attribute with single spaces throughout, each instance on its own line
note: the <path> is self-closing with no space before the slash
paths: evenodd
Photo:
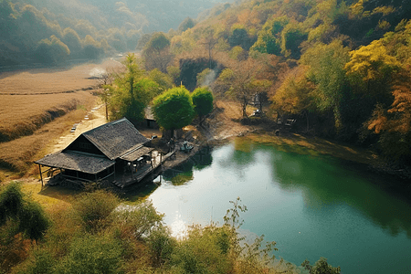
<path id="1" fill-rule="evenodd" d="M 342 273 L 411 273 L 411 202 L 393 179 L 332 157 L 231 143 L 163 174 L 149 199 L 174 234 L 223 222 L 239 196 L 242 232 L 276 241 L 296 265 L 328 258 Z"/>

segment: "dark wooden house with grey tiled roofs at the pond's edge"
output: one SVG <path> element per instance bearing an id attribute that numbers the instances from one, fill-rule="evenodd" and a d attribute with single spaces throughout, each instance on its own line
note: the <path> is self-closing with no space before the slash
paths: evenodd
<path id="1" fill-rule="evenodd" d="M 69 180 L 117 183 L 124 180 L 127 172 L 135 174 L 136 166 L 142 163 L 153 169 L 153 148 L 147 146 L 149 142 L 150 139 L 142 136 L 131 121 L 123 118 L 82 133 L 67 148 L 35 163 L 40 174 L 41 167 L 47 166 L 49 170 L 59 170 L 59 174 Z M 133 176 L 132 181 L 136 181 Z M 121 186 L 124 185 L 121 182 Z"/>

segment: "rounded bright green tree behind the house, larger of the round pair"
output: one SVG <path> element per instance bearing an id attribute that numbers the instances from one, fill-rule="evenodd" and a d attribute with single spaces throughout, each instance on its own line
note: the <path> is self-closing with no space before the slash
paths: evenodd
<path id="1" fill-rule="evenodd" d="M 195 111 L 190 92 L 184 87 L 165 91 L 153 100 L 156 121 L 165 130 L 177 130 L 193 121 Z"/>

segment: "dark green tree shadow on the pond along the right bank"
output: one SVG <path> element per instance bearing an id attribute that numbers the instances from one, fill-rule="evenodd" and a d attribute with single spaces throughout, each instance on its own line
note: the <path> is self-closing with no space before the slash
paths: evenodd
<path id="1" fill-rule="evenodd" d="M 284 153 L 283 150 L 288 151 L 284 145 L 278 151 L 275 146 L 244 144 L 236 142 L 236 151 L 226 164 L 244 168 L 253 161 L 269 161 L 272 184 L 279 184 L 283 190 L 302 190 L 305 205 L 350 205 L 390 235 L 405 231 L 411 238 L 410 184 L 389 175 L 374 174 L 363 163 L 325 155 Z"/>

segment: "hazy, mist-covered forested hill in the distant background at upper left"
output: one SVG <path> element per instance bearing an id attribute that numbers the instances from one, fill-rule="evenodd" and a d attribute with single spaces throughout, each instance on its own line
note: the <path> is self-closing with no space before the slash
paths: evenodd
<path id="1" fill-rule="evenodd" d="M 0 64 L 57 63 L 133 50 L 220 0 L 0 0 Z M 227 2 L 227 1 L 225 1 Z"/>

